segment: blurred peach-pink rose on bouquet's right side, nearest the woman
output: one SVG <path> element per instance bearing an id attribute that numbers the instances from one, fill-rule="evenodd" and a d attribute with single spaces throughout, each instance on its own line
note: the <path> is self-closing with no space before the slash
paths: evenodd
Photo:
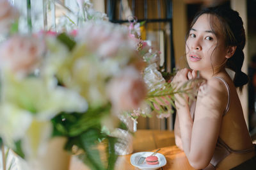
<path id="1" fill-rule="evenodd" d="M 138 109 L 146 94 L 145 83 L 133 67 L 126 68 L 108 84 L 108 95 L 116 111 Z"/>

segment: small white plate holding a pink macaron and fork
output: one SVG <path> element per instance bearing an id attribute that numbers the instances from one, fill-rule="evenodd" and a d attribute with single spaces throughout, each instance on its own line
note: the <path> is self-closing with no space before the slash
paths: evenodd
<path id="1" fill-rule="evenodd" d="M 155 155 L 156 157 L 158 157 L 159 164 L 148 165 L 146 160 L 144 160 L 143 164 L 140 164 L 140 165 L 138 164 L 138 160 L 140 159 L 140 157 L 148 157 L 148 156 L 152 155 L 152 153 L 154 153 L 154 152 L 141 151 L 141 152 L 133 153 L 131 155 L 132 166 L 135 166 L 135 167 L 138 167 L 139 169 L 144 169 L 144 170 L 154 170 L 154 169 L 158 169 L 159 167 L 166 165 L 166 158 L 161 153 L 156 153 L 156 155 Z"/>

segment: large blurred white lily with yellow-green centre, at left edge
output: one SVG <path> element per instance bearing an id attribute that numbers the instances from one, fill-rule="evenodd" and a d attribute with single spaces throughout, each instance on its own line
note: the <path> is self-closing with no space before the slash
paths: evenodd
<path id="1" fill-rule="evenodd" d="M 85 112 L 88 104 L 76 91 L 48 84 L 40 77 L 15 79 L 6 75 L 1 81 L 1 102 L 12 102 L 38 120 L 50 120 L 60 112 Z"/>

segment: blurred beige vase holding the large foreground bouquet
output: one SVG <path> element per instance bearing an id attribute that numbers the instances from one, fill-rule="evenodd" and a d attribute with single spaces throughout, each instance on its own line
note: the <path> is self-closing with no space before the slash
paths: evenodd
<path id="1" fill-rule="evenodd" d="M 28 160 L 29 170 L 68 170 L 70 155 L 63 148 L 67 139 L 54 137 L 47 144 L 47 148 L 40 156 Z"/>

